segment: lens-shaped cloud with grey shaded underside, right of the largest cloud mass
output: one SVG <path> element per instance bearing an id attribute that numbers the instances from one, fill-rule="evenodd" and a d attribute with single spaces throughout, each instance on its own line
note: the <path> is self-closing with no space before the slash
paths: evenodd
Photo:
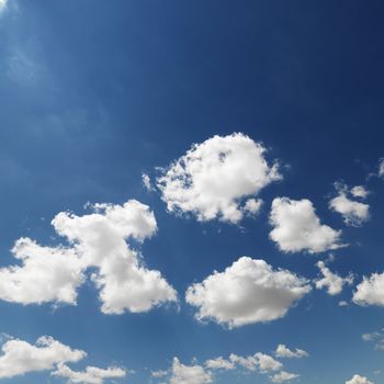
<path id="1" fill-rule="evenodd" d="M 309 291 L 305 279 L 273 270 L 264 260 L 241 257 L 224 272 L 215 271 L 190 286 L 185 300 L 199 307 L 197 319 L 233 328 L 281 318 Z"/>

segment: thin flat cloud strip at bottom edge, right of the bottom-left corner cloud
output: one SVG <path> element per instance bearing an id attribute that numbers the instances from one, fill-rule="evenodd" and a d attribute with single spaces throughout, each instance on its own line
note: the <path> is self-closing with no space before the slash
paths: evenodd
<path id="1" fill-rule="evenodd" d="M 97 366 L 87 366 L 83 372 L 72 371 L 64 363 L 59 363 L 57 370 L 52 372 L 52 375 L 68 379 L 69 383 L 81 384 L 102 384 L 105 379 L 121 379 L 125 377 L 125 370 L 116 366 L 101 369 Z"/>

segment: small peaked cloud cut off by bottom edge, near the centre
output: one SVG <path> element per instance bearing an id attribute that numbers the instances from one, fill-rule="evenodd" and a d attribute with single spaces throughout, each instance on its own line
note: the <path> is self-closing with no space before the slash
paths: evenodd
<path id="1" fill-rule="evenodd" d="M 173 358 L 170 384 L 207 384 L 212 383 L 212 375 L 201 365 L 184 365 L 178 358 Z"/>

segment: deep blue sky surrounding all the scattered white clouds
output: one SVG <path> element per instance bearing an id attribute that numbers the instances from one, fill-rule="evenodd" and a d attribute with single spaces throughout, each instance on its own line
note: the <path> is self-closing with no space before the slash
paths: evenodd
<path id="1" fill-rule="evenodd" d="M 380 176 L 384 5 L 380 1 L 8 0 L 0 7 L 1 345 L 18 340 L 35 345 L 49 336 L 87 352 L 78 361 L 60 358 L 45 369 L 3 373 L 0 382 L 65 383 L 68 375 L 52 375 L 65 363 L 74 372 L 87 366 L 126 371 L 125 377 L 106 377 L 105 383 L 181 384 L 173 358 L 182 364 L 179 371 L 200 368 L 211 377 L 184 377 L 183 384 L 210 380 L 263 384 L 282 370 L 300 375 L 286 381 L 292 383 L 346 383 L 354 374 L 361 379 L 350 384 L 384 382 L 380 372 L 384 278 L 368 286 L 372 290 L 362 293 L 363 300 L 353 300 L 363 276 L 384 271 L 384 168 Z M 170 185 L 167 172 L 193 144 L 196 150 L 205 143 L 208 154 L 215 155 L 215 136 L 225 139 L 229 155 L 233 150 L 239 155 L 242 168 L 231 172 L 227 154 L 228 178 L 213 172 L 210 180 L 228 194 L 234 185 L 241 192 L 241 182 L 247 184 L 242 176 L 249 171 L 251 179 L 250 170 L 267 161 L 262 185 L 250 183 L 230 200 L 239 204 L 239 219 L 223 217 L 223 210 L 204 216 L 199 203 L 207 190 L 188 200 L 183 193 L 191 185 L 177 192 L 192 208 L 179 204 L 177 212 L 170 212 L 167 203 L 172 199 L 156 178 L 166 177 L 165 184 Z M 238 149 L 233 147 L 236 140 Z M 260 146 L 266 149 L 262 154 L 257 151 Z M 273 165 L 280 177 L 271 176 Z M 149 189 L 143 174 L 150 178 Z M 355 185 L 364 187 L 368 196 L 353 195 Z M 207 207 L 217 203 L 215 196 Z M 293 218 L 280 224 L 291 240 L 297 237 L 293 240 L 305 244 L 293 250 L 281 237 L 272 239 L 276 223 L 271 223 L 271 205 L 283 196 L 292 206 L 310 201 L 318 225 L 327 225 L 335 238 L 314 250 L 302 238 L 310 221 L 292 229 L 295 215 L 302 214 L 295 211 Z M 349 202 L 343 216 L 336 211 L 346 201 L 329 206 L 337 196 Z M 244 208 L 247 199 L 263 201 L 257 213 Z M 148 224 L 143 241 L 131 229 L 121 235 L 129 247 L 126 257 L 138 262 L 140 271 L 159 271 L 169 291 L 155 290 L 153 294 L 165 296 L 148 310 L 132 310 L 129 304 L 122 313 L 105 313 L 91 274 L 99 273 L 100 281 L 111 278 L 100 272 L 109 261 L 92 259 L 84 267 L 84 251 L 79 250 L 81 245 L 88 247 L 84 233 L 68 242 L 50 222 L 60 212 L 87 218 L 97 210 L 92 204 L 116 207 L 129 200 L 144 204 L 135 210 L 148 221 L 156 217 L 157 224 Z M 87 203 L 90 206 L 84 207 Z M 278 208 L 285 203 L 280 201 Z M 369 205 L 369 214 L 359 211 L 361 204 Z M 99 218 L 105 219 L 108 214 L 100 210 L 103 218 Z M 129 210 L 122 214 L 129 215 Z M 310 213 L 308 205 L 303 210 Z M 2 272 L 22 266 L 11 249 L 23 237 L 41 247 L 65 247 L 76 253 L 74 260 L 81 259 L 78 275 L 83 282 L 75 287 L 75 301 L 49 298 L 44 286 L 37 296 L 47 297 L 41 300 L 33 300 L 29 289 L 18 300 L 8 292 L 15 278 Z M 34 260 L 41 252 L 33 253 Z M 310 292 L 269 320 L 253 318 L 231 327 L 230 321 L 215 318 L 212 308 L 210 318 L 196 319 L 199 307 L 185 301 L 185 291 L 244 256 L 306 280 L 296 284 Z M 335 295 L 327 292 L 328 285 L 317 289 L 318 261 L 341 279 L 353 274 L 353 282 L 343 280 Z M 34 276 L 39 275 L 38 268 Z M 23 289 L 23 282 L 19 284 Z M 260 294 L 251 290 L 251 297 L 252 293 Z M 235 291 L 234 295 L 239 298 Z M 247 297 L 240 304 L 250 308 L 255 303 Z M 364 334 L 370 336 L 363 338 Z M 308 357 L 280 358 L 274 353 L 279 345 L 302 349 Z M 258 352 L 281 361 L 283 369 L 263 370 L 255 358 Z M 235 363 L 231 353 L 253 357 L 253 369 Z M 210 369 L 205 362 L 217 357 L 236 366 Z M 0 355 L 3 372 L 5 364 Z M 25 369 L 27 363 L 21 365 Z M 159 370 L 167 374 L 151 377 L 150 372 Z M 91 383 L 83 377 L 72 382 Z M 102 383 L 99 380 L 94 383 Z"/>

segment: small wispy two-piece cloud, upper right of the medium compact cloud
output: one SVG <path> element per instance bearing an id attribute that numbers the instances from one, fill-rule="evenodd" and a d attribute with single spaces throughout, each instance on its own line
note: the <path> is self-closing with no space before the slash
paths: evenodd
<path id="1" fill-rule="evenodd" d="M 370 206 L 348 197 L 348 194 L 365 197 L 368 192 L 364 188 L 358 185 L 349 191 L 347 185 L 336 183 L 336 189 L 338 195 L 330 200 L 329 207 L 341 214 L 345 223 L 349 226 L 358 227 L 365 223 L 370 217 Z"/>

